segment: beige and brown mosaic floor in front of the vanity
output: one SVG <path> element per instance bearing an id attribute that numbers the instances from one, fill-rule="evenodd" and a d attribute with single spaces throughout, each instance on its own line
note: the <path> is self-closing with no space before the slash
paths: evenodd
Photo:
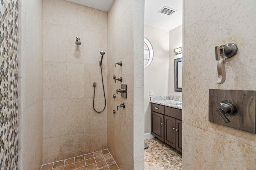
<path id="1" fill-rule="evenodd" d="M 145 170 L 181 170 L 181 153 L 159 139 L 145 140 Z"/>

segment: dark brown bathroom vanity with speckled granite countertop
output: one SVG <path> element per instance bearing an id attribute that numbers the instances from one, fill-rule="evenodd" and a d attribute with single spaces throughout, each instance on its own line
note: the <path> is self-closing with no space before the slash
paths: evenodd
<path id="1" fill-rule="evenodd" d="M 182 102 L 167 98 L 150 103 L 152 135 L 182 152 Z"/>

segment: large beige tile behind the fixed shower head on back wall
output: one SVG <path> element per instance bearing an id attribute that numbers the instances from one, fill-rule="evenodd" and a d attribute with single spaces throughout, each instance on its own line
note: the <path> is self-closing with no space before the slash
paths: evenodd
<path id="1" fill-rule="evenodd" d="M 80 37 L 79 46 L 76 37 Z M 82 29 L 43 23 L 43 61 L 83 64 L 84 44 Z"/>

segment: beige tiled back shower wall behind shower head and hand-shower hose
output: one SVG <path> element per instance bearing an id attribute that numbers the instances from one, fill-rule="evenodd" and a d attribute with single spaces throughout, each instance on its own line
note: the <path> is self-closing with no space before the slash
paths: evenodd
<path id="1" fill-rule="evenodd" d="M 64 0 L 43 0 L 43 163 L 107 148 L 108 14 Z M 74 44 L 80 37 L 81 45 Z M 107 94 L 106 94 L 107 95 Z"/>

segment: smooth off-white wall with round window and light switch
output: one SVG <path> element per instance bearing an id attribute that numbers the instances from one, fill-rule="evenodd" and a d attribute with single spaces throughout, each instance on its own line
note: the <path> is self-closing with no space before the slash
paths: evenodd
<path id="1" fill-rule="evenodd" d="M 151 132 L 151 105 L 149 90 L 154 96 L 167 96 L 169 86 L 169 31 L 145 25 L 144 36 L 150 41 L 154 57 L 144 68 L 145 133 Z"/>

